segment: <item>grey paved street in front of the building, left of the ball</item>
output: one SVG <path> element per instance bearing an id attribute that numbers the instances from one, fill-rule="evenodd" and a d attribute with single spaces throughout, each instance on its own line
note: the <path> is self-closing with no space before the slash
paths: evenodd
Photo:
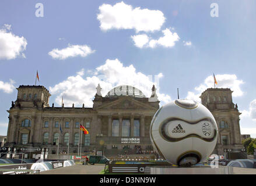
<path id="1" fill-rule="evenodd" d="M 104 166 L 104 164 L 76 164 L 74 166 L 42 171 L 40 174 L 99 174 L 99 172 L 104 169 Z"/>

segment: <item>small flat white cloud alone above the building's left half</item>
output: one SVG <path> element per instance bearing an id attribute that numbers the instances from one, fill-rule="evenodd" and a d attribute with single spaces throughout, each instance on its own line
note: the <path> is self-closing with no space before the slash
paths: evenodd
<path id="1" fill-rule="evenodd" d="M 86 57 L 87 55 L 95 52 L 87 45 L 71 45 L 69 44 L 67 48 L 58 49 L 54 48 L 48 55 L 52 56 L 54 59 L 64 60 L 66 58 L 81 56 Z"/>

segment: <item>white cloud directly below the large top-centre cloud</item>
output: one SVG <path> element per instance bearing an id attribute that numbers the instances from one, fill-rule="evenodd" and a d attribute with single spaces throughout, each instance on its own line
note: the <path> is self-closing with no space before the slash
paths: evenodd
<path id="1" fill-rule="evenodd" d="M 151 38 L 149 40 L 149 37 L 146 34 L 132 35 L 131 38 L 134 41 L 135 46 L 139 48 L 142 48 L 142 47 L 155 48 L 157 46 L 173 47 L 175 45 L 175 42 L 180 40 L 180 37 L 178 36 L 178 34 L 172 33 L 169 28 L 166 28 L 162 32 L 164 36 L 160 37 L 158 40 L 154 40 Z"/>

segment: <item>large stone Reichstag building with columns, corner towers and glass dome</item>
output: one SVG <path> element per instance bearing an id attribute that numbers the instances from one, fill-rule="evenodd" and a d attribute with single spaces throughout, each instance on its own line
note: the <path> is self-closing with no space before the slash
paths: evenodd
<path id="1" fill-rule="evenodd" d="M 17 99 L 9 113 L 8 134 L 5 146 L 20 148 L 48 148 L 49 153 L 78 152 L 79 126 L 89 134 L 82 135 L 83 152 L 94 151 L 107 156 L 135 154 L 138 149 L 152 151 L 149 126 L 159 109 L 155 86 L 146 98 L 138 88 L 122 85 L 101 95 L 96 88 L 93 107 L 55 107 L 50 105 L 51 94 L 41 85 L 20 85 Z M 232 101 L 229 88 L 208 88 L 201 94 L 201 102 L 213 114 L 219 128 L 218 144 L 214 153 L 223 155 L 232 149 L 234 155 L 241 152 L 239 115 Z M 62 133 L 59 136 L 59 125 Z M 58 140 L 59 138 L 59 140 Z M 59 144 L 58 144 L 59 143 Z M 69 143 L 69 145 L 68 145 Z M 26 151 L 26 150 L 25 150 Z"/>

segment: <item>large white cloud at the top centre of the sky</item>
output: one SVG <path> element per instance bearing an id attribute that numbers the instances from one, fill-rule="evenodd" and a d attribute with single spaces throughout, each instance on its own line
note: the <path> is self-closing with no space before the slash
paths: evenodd
<path id="1" fill-rule="evenodd" d="M 160 10 L 132 8 L 124 2 L 115 5 L 103 4 L 99 7 L 97 19 L 100 21 L 101 30 L 110 29 L 135 29 L 138 31 L 160 30 L 165 17 Z"/>

